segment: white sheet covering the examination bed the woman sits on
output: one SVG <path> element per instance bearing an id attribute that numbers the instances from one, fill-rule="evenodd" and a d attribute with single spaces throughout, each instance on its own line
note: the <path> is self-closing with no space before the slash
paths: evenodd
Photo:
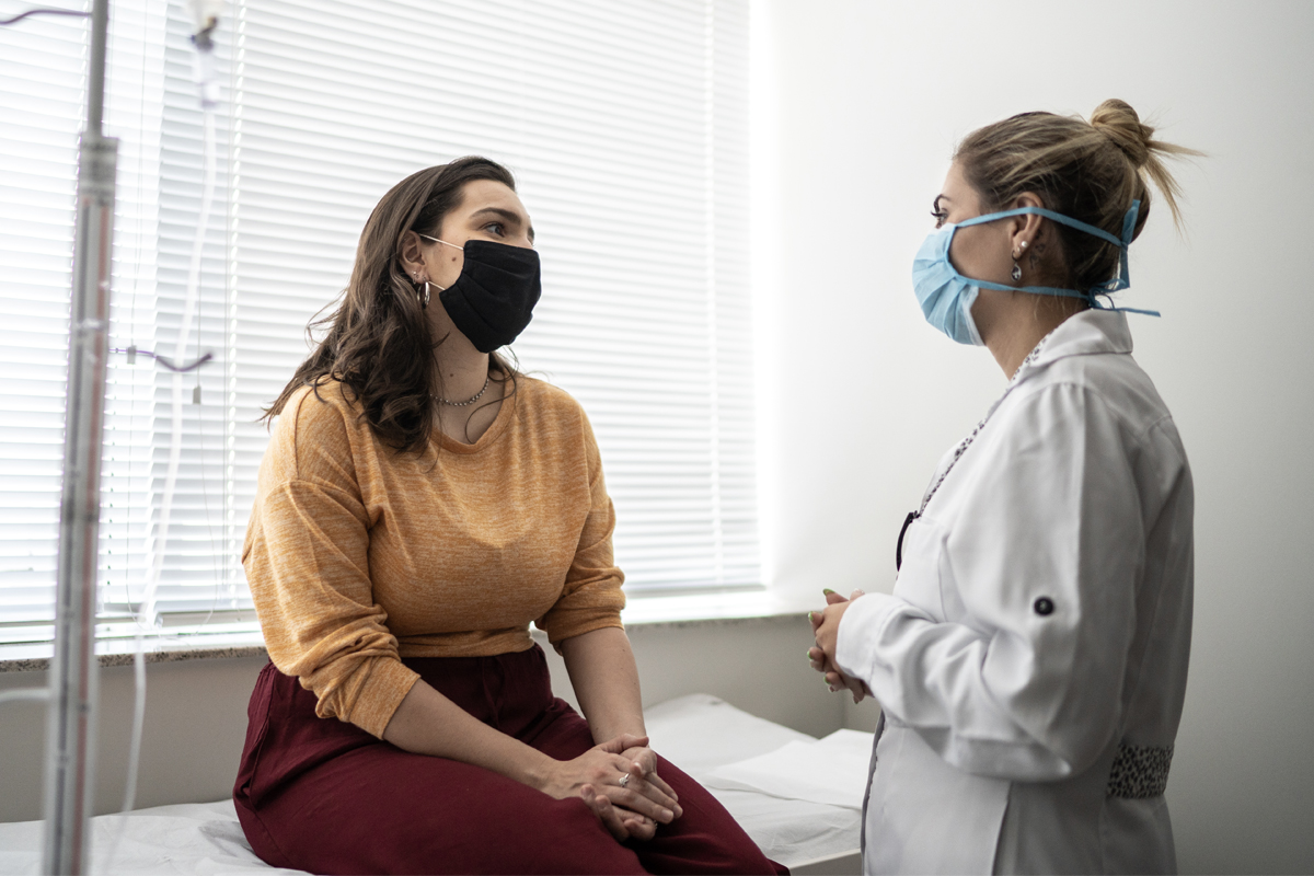
<path id="1" fill-rule="evenodd" d="M 754 717 L 706 693 L 662 703 L 645 713 L 652 746 L 694 779 L 719 767 L 769 754 L 807 734 Z M 853 768 L 866 775 L 866 762 Z M 853 854 L 861 813 L 759 791 L 710 788 L 762 851 L 786 867 Z M 861 804 L 861 801 L 859 801 Z M 120 829 L 118 816 L 92 820 L 92 872 L 104 873 L 105 855 Z M 0 823 L 0 873 L 41 871 L 42 822 Z M 134 812 L 114 854 L 116 873 L 300 873 L 269 867 L 251 851 L 231 800 L 155 806 Z"/>

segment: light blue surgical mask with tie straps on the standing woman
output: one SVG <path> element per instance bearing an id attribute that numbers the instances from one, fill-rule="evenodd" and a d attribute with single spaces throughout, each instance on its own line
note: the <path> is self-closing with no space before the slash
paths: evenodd
<path id="1" fill-rule="evenodd" d="M 926 235 L 925 243 L 921 244 L 921 248 L 917 251 L 917 256 L 912 263 L 913 292 L 917 294 L 917 302 L 921 305 L 921 313 L 926 317 L 926 322 L 957 340 L 959 344 L 978 345 L 983 341 L 980 332 L 976 331 L 976 323 L 972 320 L 972 302 L 976 301 L 976 296 L 982 289 L 1029 292 L 1037 296 L 1081 298 L 1083 301 L 1089 302 L 1092 307 L 1101 310 L 1126 310 L 1130 313 L 1158 317 L 1159 313 L 1154 310 L 1109 307 L 1101 305 L 1096 298 L 1096 296 L 1108 296 L 1109 293 L 1126 289 L 1131 285 L 1127 278 L 1127 247 L 1131 243 L 1131 234 L 1135 231 L 1137 213 L 1139 210 L 1141 201 L 1133 201 L 1131 209 L 1127 210 L 1127 214 L 1122 219 L 1121 240 L 1108 231 L 1095 227 L 1093 225 L 1087 225 L 1085 222 L 1079 222 L 1071 217 L 1066 217 L 1062 213 L 1054 213 L 1053 210 L 1046 210 L 1045 208 L 1038 206 L 1024 206 L 1017 208 L 1016 210 L 1004 210 L 1001 213 L 987 213 L 986 215 L 978 215 L 967 219 L 966 222 L 946 225 L 937 229 Z M 958 229 L 966 229 L 970 225 L 995 222 L 997 219 L 1007 219 L 1010 215 L 1021 215 L 1024 213 L 1043 215 L 1047 219 L 1053 219 L 1054 222 L 1084 231 L 1085 234 L 1093 234 L 1095 236 L 1108 240 L 1118 247 L 1118 250 L 1121 250 L 1118 277 L 1095 286 L 1093 289 L 1088 289 L 1087 292 L 1080 292 L 1077 289 L 1059 289 L 1056 286 L 1005 286 L 987 280 L 972 280 L 971 277 L 964 277 L 958 273 L 953 263 L 949 260 L 949 244 L 953 243 L 954 232 L 957 232 Z"/>

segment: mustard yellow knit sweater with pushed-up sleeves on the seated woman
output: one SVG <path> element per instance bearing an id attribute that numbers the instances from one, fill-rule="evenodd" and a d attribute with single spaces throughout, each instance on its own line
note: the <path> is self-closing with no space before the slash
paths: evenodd
<path id="1" fill-rule="evenodd" d="M 382 737 L 419 678 L 401 657 L 476 657 L 620 626 L 615 512 L 589 420 L 528 377 L 474 444 L 398 454 L 325 383 L 284 407 L 242 563 L 275 666 L 317 713 Z"/>

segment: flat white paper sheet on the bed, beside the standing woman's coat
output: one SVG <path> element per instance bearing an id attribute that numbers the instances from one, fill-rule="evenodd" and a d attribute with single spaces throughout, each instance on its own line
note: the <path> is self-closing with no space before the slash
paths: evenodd
<path id="1" fill-rule="evenodd" d="M 871 733 L 836 730 L 816 742 L 795 739 L 775 751 L 717 767 L 704 784 L 862 809 L 872 738 Z"/>

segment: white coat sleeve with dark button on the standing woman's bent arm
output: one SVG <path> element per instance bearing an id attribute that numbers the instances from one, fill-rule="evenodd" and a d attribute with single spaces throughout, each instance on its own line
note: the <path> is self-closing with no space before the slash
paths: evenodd
<path id="1" fill-rule="evenodd" d="M 1130 436 L 1102 399 L 1067 383 L 996 418 L 992 440 L 968 449 L 980 456 L 955 487 L 951 524 L 936 521 L 933 500 L 913 524 L 929 537 L 904 558 L 905 570 L 930 563 L 922 574 L 938 577 L 954 620 L 862 596 L 840 625 L 837 662 L 947 763 L 1056 780 L 1091 767 L 1121 720 L 1144 562 Z"/>

